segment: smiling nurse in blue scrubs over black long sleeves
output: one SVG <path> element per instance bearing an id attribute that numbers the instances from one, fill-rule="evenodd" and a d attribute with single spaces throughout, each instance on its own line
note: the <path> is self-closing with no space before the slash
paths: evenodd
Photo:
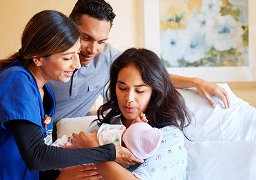
<path id="1" fill-rule="evenodd" d="M 68 17 L 44 10 L 27 23 L 19 52 L 0 61 L 0 179 L 38 179 L 41 170 L 115 160 L 113 144 L 48 146 L 56 100 L 47 82 L 68 82 L 81 67 L 79 37 Z"/>

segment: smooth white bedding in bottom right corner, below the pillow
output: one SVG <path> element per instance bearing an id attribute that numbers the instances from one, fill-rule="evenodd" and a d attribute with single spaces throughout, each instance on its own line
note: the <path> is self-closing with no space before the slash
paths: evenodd
<path id="1" fill-rule="evenodd" d="M 187 180 L 255 180 L 255 141 L 186 143 Z"/>

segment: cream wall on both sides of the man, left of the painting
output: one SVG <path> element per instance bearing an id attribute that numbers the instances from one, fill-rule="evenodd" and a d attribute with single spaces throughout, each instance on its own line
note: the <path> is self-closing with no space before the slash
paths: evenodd
<path id="1" fill-rule="evenodd" d="M 109 42 L 119 50 L 138 45 L 137 10 L 134 10 L 137 8 L 137 1 L 109 0 L 116 13 L 116 19 L 109 34 Z M 75 2 L 77 0 L 1 0 L 0 58 L 5 58 L 19 50 L 23 28 L 35 13 L 44 9 L 54 9 L 68 16 Z"/>

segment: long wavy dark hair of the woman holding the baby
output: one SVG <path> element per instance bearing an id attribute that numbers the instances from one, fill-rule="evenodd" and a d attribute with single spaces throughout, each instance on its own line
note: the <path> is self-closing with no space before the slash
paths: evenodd
<path id="1" fill-rule="evenodd" d="M 161 59 L 154 52 L 144 48 L 130 48 L 113 62 L 106 92 L 107 102 L 97 112 L 99 124 L 110 123 L 111 118 L 122 113 L 116 96 L 117 76 L 121 69 L 129 65 L 136 66 L 144 83 L 153 88 L 150 103 L 144 112 L 148 123 L 155 128 L 176 126 L 183 132 L 191 122 L 191 112 L 186 108 L 184 98 L 174 88 Z"/>

